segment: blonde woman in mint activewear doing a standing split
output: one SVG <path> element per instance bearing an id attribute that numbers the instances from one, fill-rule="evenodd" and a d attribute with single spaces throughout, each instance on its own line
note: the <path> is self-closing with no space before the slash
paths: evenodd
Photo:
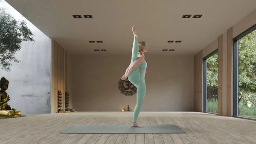
<path id="1" fill-rule="evenodd" d="M 137 30 L 134 26 L 132 27 L 132 32 L 134 33 L 134 42 L 132 47 L 131 63 L 126 69 L 125 74 L 122 76 L 122 80 L 125 80 L 128 77 L 129 81 L 137 88 L 137 104 L 134 109 L 131 127 L 143 127 L 137 123 L 137 118 L 146 93 L 145 72 L 147 62 L 144 59 L 144 53 L 148 51 L 148 45 L 146 42 L 138 43 L 139 35 L 137 34 Z"/>

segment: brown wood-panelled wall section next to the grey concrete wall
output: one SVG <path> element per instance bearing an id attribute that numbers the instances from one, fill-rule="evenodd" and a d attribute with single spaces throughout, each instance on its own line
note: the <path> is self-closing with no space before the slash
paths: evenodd
<path id="1" fill-rule="evenodd" d="M 58 109 L 65 110 L 65 92 L 70 94 L 69 107 L 72 108 L 72 90 L 68 81 L 70 80 L 70 54 L 51 39 L 51 113 L 57 113 Z M 62 107 L 58 107 L 58 90 L 62 92 Z M 70 90 L 70 91 L 69 91 Z"/>

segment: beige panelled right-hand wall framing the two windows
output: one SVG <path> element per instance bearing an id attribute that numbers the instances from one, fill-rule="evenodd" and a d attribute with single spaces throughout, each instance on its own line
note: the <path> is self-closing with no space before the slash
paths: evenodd
<path id="1" fill-rule="evenodd" d="M 219 65 L 221 66 L 221 77 L 219 77 L 219 87 L 218 90 L 221 90 L 219 96 L 219 109 L 221 110 L 219 115 L 221 116 L 233 116 L 233 38 L 237 35 L 241 34 L 243 31 L 247 30 L 251 26 L 256 24 L 256 9 L 248 14 L 244 19 L 233 25 L 233 27 L 229 28 L 225 31 L 220 37 L 216 38 L 212 43 L 210 43 L 206 48 L 202 51 L 198 52 L 198 54 L 203 53 L 202 58 L 210 54 L 211 52 L 218 50 L 219 57 L 222 58 L 219 60 Z M 221 39 L 219 39 L 221 38 Z M 194 57 L 197 58 L 198 54 Z M 203 61 L 198 61 L 195 65 L 202 65 Z M 202 73 L 203 74 L 203 73 Z M 195 74 L 196 75 L 196 74 Z M 195 79 L 195 81 L 199 81 L 199 79 Z M 200 82 L 198 82 L 200 83 Z M 202 88 L 203 85 L 199 85 Z M 201 89 L 199 88 L 199 89 Z M 195 99 L 194 104 L 202 102 L 203 93 L 199 95 L 195 93 L 194 95 L 197 99 Z M 199 97 L 199 98 L 198 98 Z M 198 111 L 202 111 L 202 108 Z"/>

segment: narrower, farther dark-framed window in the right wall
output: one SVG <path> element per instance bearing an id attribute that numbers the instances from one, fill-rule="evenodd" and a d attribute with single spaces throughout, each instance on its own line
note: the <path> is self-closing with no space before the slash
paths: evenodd
<path id="1" fill-rule="evenodd" d="M 204 58 L 204 112 L 218 113 L 218 50 Z"/>

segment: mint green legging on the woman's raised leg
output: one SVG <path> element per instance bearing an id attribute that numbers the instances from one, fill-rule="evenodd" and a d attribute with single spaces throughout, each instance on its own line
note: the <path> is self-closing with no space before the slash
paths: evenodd
<path id="1" fill-rule="evenodd" d="M 132 46 L 132 53 L 131 53 L 131 64 L 130 64 L 130 66 L 138 58 L 138 52 L 139 52 L 138 39 L 134 38 L 134 43 L 133 43 L 133 46 Z M 132 71 L 131 74 L 129 75 L 128 79 L 132 84 L 137 85 L 140 82 L 139 68 L 135 68 L 134 71 Z"/>

